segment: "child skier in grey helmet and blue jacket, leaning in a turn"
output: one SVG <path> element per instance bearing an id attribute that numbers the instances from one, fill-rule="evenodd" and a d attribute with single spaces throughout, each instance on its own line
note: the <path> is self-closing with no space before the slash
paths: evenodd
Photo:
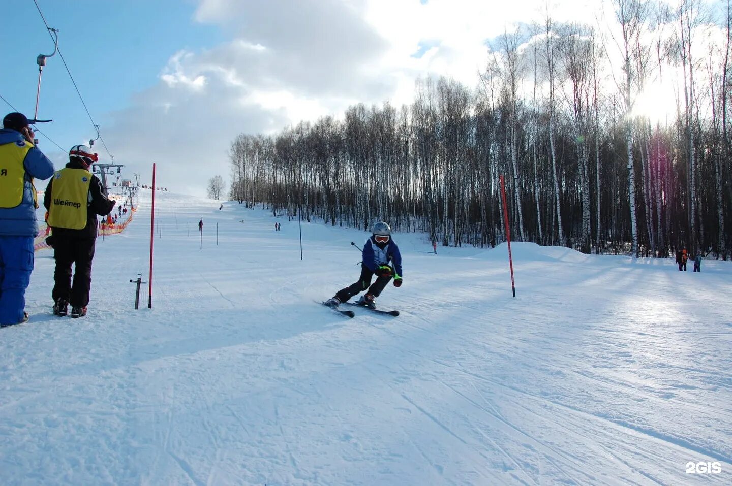
<path id="1" fill-rule="evenodd" d="M 325 304 L 337 307 L 338 304 L 348 302 L 354 295 L 368 289 L 357 305 L 376 308 L 376 297 L 381 294 L 389 280 L 394 277 L 394 286 L 402 286 L 402 256 L 397 243 L 392 240 L 392 229 L 384 221 L 373 225 L 371 238 L 366 240 L 362 251 L 361 276 L 359 281 L 345 289 L 340 289 L 335 296 L 326 300 Z M 393 264 L 393 267 L 389 265 Z M 371 278 L 376 275 L 376 281 L 371 284 Z"/>

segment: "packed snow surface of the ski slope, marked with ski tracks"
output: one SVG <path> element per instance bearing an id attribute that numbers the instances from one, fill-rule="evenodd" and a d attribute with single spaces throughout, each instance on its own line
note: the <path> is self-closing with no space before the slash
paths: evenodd
<path id="1" fill-rule="evenodd" d="M 347 319 L 315 301 L 368 233 L 303 221 L 301 260 L 296 220 L 157 192 L 135 311 L 141 191 L 86 317 L 51 314 L 42 250 L 0 329 L 2 485 L 732 484 L 730 262 L 513 243 L 514 298 L 505 244 L 396 233 L 401 315 Z"/>

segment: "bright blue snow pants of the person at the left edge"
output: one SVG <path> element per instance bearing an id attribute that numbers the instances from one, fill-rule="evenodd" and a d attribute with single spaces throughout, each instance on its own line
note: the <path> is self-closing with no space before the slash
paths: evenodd
<path id="1" fill-rule="evenodd" d="M 32 236 L 0 236 L 0 324 L 18 324 L 34 264 Z"/>

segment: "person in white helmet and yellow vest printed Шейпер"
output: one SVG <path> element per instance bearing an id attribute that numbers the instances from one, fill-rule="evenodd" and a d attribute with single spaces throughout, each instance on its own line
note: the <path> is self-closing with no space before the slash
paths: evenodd
<path id="1" fill-rule="evenodd" d="M 48 209 L 48 226 L 53 228 L 53 314 L 86 316 L 91 289 L 91 260 L 97 242 L 97 215 L 107 216 L 116 201 L 96 175 L 89 172 L 97 154 L 86 145 L 74 145 L 69 163 L 53 175 L 43 194 Z M 71 265 L 76 264 L 73 283 Z"/>

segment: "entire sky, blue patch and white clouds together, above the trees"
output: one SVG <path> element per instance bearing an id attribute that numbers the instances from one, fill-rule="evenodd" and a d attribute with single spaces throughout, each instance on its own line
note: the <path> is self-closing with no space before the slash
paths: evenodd
<path id="1" fill-rule="evenodd" d="M 557 20 L 581 20 L 605 0 L 550 0 Z M 341 115 L 348 105 L 414 96 L 419 77 L 447 75 L 475 86 L 486 40 L 541 18 L 545 0 L 37 0 L 123 177 L 204 195 L 228 182 L 228 148 L 241 133 L 279 132 L 301 120 Z M 466 15 L 470 12 L 470 15 Z M 0 20 L 0 95 L 31 117 L 39 54 L 53 50 L 32 0 Z M 12 108 L 0 101 L 5 112 Z M 42 77 L 39 118 L 60 150 L 96 136 L 59 56 Z M 111 162 L 101 143 L 102 162 Z"/>

